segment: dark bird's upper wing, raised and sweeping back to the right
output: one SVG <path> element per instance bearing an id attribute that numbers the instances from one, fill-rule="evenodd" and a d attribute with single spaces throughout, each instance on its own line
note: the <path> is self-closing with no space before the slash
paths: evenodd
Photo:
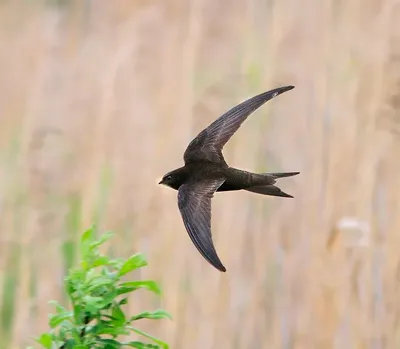
<path id="1" fill-rule="evenodd" d="M 285 86 L 261 93 L 228 110 L 190 142 L 183 155 L 185 163 L 201 160 L 225 163 L 222 148 L 244 120 L 265 102 L 293 88 Z"/>

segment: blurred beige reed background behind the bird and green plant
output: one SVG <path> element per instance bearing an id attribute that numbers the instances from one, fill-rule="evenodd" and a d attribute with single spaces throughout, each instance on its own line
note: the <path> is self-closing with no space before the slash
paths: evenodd
<path id="1" fill-rule="evenodd" d="M 227 144 L 234 167 L 300 171 L 294 199 L 213 199 L 227 273 L 157 185 L 187 144 L 251 97 L 296 88 Z M 92 223 L 146 254 L 130 311 L 171 348 L 400 345 L 400 2 L 0 3 L 0 347 L 48 329 Z M 134 275 L 135 276 L 135 275 Z"/>

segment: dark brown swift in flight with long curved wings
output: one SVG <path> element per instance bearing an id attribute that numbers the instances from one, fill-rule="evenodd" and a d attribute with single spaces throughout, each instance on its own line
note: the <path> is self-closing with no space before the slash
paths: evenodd
<path id="1" fill-rule="evenodd" d="M 178 191 L 178 208 L 190 239 L 200 254 L 221 272 L 226 272 L 226 268 L 215 250 L 211 234 L 211 199 L 214 193 L 246 190 L 293 198 L 274 184 L 279 178 L 300 173 L 239 170 L 226 163 L 222 149 L 250 114 L 293 88 L 283 86 L 260 93 L 225 112 L 189 143 L 183 155 L 184 166 L 168 172 L 158 183 Z"/>

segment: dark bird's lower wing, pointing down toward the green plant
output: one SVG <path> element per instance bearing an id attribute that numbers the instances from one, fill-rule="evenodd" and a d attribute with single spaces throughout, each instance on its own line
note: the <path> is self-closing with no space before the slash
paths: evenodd
<path id="1" fill-rule="evenodd" d="M 191 181 L 178 191 L 178 207 L 189 236 L 202 256 L 220 271 L 221 263 L 211 236 L 211 198 L 225 179 Z"/>

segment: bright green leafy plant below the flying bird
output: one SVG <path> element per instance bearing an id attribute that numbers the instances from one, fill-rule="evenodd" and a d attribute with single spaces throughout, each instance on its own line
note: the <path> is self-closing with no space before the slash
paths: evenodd
<path id="1" fill-rule="evenodd" d="M 160 294 L 156 282 L 121 281 L 132 270 L 147 265 L 142 254 L 128 259 L 110 259 L 99 252 L 99 246 L 112 236 L 107 233 L 94 239 L 94 228 L 87 230 L 80 240 L 80 266 L 71 269 L 65 278 L 65 289 L 72 310 L 55 301 L 56 314 L 50 315 L 51 331 L 36 339 L 47 349 L 116 349 L 116 348 L 168 348 L 159 339 L 139 330 L 133 323 L 140 319 L 171 318 L 164 310 L 146 311 L 128 317 L 122 307 L 128 303 L 128 293 L 145 288 Z M 118 341 L 121 335 L 136 333 L 155 344 L 141 341 Z"/>

